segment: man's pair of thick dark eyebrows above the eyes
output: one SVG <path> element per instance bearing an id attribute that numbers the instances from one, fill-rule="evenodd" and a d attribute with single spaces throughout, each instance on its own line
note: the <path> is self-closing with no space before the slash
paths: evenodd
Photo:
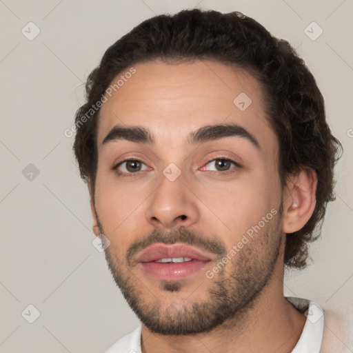
<path id="1" fill-rule="evenodd" d="M 190 132 L 188 136 L 188 143 L 196 144 L 208 141 L 214 141 L 221 139 L 223 137 L 242 137 L 247 139 L 254 145 L 256 148 L 261 150 L 261 146 L 259 141 L 245 130 L 245 128 L 236 124 L 221 124 L 221 125 L 205 125 L 201 128 Z M 105 143 L 125 140 L 136 143 L 148 143 L 150 145 L 154 144 L 154 136 L 147 128 L 143 128 L 142 126 L 132 126 L 125 128 L 121 125 L 116 125 L 108 135 L 103 139 L 102 145 Z"/>

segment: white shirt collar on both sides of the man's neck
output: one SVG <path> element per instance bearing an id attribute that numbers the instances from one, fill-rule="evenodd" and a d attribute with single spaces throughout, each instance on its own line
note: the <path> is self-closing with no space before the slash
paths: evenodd
<path id="1" fill-rule="evenodd" d="M 307 299 L 285 297 L 307 317 L 303 332 L 292 353 L 320 353 L 323 341 L 324 314 L 321 307 Z M 141 353 L 141 325 L 114 343 L 105 353 Z"/>

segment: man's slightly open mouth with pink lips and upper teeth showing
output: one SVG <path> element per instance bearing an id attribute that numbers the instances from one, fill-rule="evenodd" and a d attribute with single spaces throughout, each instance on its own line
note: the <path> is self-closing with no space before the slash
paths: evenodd
<path id="1" fill-rule="evenodd" d="M 188 245 L 159 243 L 143 251 L 137 261 L 141 270 L 154 279 L 179 281 L 199 272 L 212 257 Z"/>

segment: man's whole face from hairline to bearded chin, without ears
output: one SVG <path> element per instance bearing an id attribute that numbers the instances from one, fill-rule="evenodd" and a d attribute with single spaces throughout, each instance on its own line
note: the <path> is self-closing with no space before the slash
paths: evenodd
<path id="1" fill-rule="evenodd" d="M 245 70 L 214 61 L 134 68 L 101 108 L 95 221 L 142 323 L 204 332 L 250 308 L 283 265 L 278 141 Z M 192 141 L 225 124 L 239 127 Z M 154 142 L 123 139 L 117 127 L 149 130 Z"/>

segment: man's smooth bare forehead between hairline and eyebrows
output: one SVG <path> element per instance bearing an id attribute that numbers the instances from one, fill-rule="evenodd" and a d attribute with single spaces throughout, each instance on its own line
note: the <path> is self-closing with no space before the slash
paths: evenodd
<path id="1" fill-rule="evenodd" d="M 201 126 L 235 123 L 257 135 L 261 145 L 272 143 L 275 148 L 261 85 L 248 71 L 210 60 L 139 63 L 134 74 L 125 76 L 129 70 L 121 72 L 111 87 L 120 79 L 119 85 L 105 94 L 99 147 L 116 125 L 143 126 L 157 142 L 185 143 Z"/>

